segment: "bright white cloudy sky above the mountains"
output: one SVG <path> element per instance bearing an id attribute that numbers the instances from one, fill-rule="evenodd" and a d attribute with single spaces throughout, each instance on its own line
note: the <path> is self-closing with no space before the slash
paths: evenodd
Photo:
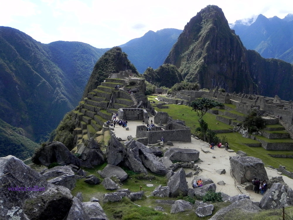
<path id="1" fill-rule="evenodd" d="M 290 0 L 0 0 L 0 26 L 45 44 L 80 41 L 111 48 L 149 30 L 183 30 L 207 5 L 222 8 L 229 23 L 259 14 L 284 18 L 293 13 Z"/>

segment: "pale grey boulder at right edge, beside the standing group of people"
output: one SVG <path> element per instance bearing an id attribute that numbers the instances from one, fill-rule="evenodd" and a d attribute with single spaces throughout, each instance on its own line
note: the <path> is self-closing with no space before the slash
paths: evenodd
<path id="1" fill-rule="evenodd" d="M 259 202 L 262 209 L 280 209 L 293 206 L 293 190 L 281 183 L 273 183 Z"/>

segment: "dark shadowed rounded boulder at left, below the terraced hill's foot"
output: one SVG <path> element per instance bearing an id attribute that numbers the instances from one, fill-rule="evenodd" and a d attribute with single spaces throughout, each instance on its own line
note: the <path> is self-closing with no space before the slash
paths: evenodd
<path id="1" fill-rule="evenodd" d="M 72 154 L 68 148 L 59 141 L 52 141 L 38 149 L 32 156 L 35 164 L 49 166 L 52 163 L 59 163 L 61 166 L 74 164 L 80 166 L 80 159 Z"/>

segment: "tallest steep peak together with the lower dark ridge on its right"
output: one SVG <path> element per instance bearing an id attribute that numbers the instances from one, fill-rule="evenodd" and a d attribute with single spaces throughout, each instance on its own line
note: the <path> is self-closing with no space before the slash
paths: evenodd
<path id="1" fill-rule="evenodd" d="M 164 63 L 175 65 L 185 81 L 201 88 L 284 100 L 293 96 L 293 66 L 246 50 L 218 6 L 209 5 L 190 19 Z"/>

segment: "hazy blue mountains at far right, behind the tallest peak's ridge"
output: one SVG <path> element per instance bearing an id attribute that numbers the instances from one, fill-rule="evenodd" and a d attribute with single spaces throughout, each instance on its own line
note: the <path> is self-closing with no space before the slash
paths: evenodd
<path id="1" fill-rule="evenodd" d="M 259 15 L 255 22 L 230 24 L 246 49 L 257 51 L 262 57 L 282 59 L 293 63 L 293 14 L 281 19 Z"/>

